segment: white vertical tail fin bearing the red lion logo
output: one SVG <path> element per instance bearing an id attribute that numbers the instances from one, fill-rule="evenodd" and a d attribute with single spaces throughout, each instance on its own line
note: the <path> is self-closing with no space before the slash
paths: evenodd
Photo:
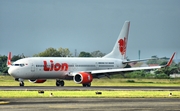
<path id="1" fill-rule="evenodd" d="M 126 59 L 126 48 L 128 41 L 130 21 L 125 21 L 113 50 L 104 58 Z"/>

